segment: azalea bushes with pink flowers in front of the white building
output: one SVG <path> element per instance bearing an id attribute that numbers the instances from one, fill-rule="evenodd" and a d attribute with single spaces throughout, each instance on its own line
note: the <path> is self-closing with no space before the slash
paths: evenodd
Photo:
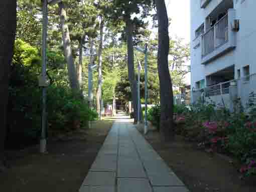
<path id="1" fill-rule="evenodd" d="M 231 154 L 241 162 L 240 172 L 256 175 L 256 107 L 251 94 L 247 113 L 229 113 L 214 103 L 190 106 L 175 116 L 176 133 L 211 152 Z M 180 110 L 177 110 L 180 111 Z"/>

